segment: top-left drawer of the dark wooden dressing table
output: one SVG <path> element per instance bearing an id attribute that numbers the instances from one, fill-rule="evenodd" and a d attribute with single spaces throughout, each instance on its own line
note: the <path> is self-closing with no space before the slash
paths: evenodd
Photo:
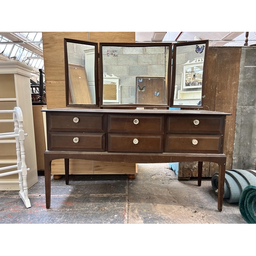
<path id="1" fill-rule="evenodd" d="M 49 113 L 50 132 L 105 132 L 104 114 Z"/>

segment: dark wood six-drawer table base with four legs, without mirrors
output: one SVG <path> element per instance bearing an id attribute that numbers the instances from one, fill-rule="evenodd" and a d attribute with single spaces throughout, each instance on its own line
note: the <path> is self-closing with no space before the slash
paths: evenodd
<path id="1" fill-rule="evenodd" d="M 51 161 L 69 159 L 124 163 L 198 161 L 219 164 L 218 210 L 222 210 L 226 156 L 226 116 L 195 110 L 48 109 L 45 152 L 46 207 L 51 199 Z"/>

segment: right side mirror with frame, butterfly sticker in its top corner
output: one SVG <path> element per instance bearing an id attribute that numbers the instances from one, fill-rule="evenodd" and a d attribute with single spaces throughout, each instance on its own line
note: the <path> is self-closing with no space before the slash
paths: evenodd
<path id="1" fill-rule="evenodd" d="M 203 108 L 208 40 L 174 45 L 172 106 Z"/>

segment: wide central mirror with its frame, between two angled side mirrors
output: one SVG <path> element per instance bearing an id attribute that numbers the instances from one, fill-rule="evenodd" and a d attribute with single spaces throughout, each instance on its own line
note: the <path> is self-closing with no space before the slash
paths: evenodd
<path id="1" fill-rule="evenodd" d="M 100 44 L 102 106 L 170 104 L 172 44 Z"/>

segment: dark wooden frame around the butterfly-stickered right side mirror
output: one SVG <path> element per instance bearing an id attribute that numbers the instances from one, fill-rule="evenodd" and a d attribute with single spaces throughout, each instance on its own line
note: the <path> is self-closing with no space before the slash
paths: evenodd
<path id="1" fill-rule="evenodd" d="M 174 104 L 174 93 L 175 93 L 175 80 L 176 80 L 176 54 L 177 47 L 189 46 L 189 45 L 201 45 L 205 44 L 204 48 L 204 63 L 203 63 L 203 77 L 202 77 L 202 95 L 201 95 L 201 105 L 175 105 Z M 207 59 L 208 59 L 208 46 L 209 40 L 200 40 L 200 41 L 187 41 L 187 42 L 178 42 L 173 45 L 173 63 L 172 63 L 172 91 L 171 91 L 171 107 L 172 108 L 186 108 L 186 109 L 203 109 L 204 108 L 204 98 L 205 98 L 205 84 L 206 84 L 206 72 L 207 72 Z M 184 76 L 184 74 L 183 74 Z"/>

